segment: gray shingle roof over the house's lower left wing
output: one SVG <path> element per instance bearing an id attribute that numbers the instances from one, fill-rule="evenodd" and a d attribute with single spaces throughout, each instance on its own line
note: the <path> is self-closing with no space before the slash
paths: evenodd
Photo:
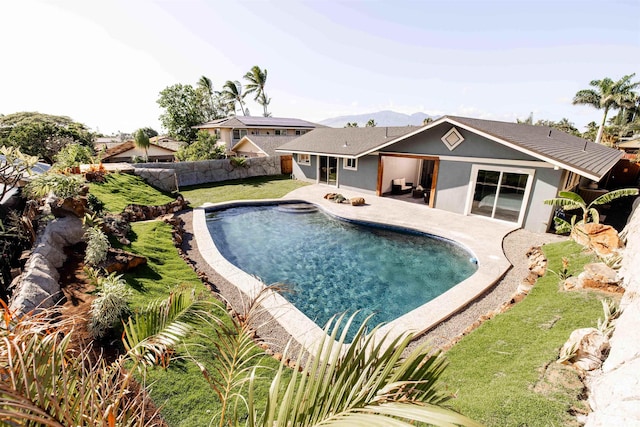
<path id="1" fill-rule="evenodd" d="M 357 157 L 418 129 L 415 126 L 320 128 L 284 144 L 278 151 Z"/>

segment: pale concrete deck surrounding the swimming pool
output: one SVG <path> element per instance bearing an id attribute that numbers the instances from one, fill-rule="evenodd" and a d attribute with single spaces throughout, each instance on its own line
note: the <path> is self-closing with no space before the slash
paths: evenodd
<path id="1" fill-rule="evenodd" d="M 335 189 L 323 185 L 299 188 L 279 200 L 299 200 L 312 203 L 326 212 L 345 219 L 390 224 L 434 234 L 456 241 L 465 246 L 478 260 L 478 270 L 471 277 L 434 300 L 406 313 L 383 326 L 378 334 L 389 334 L 393 339 L 406 332 L 420 334 L 427 331 L 453 313 L 467 306 L 496 283 L 511 267 L 506 258 L 502 241 L 518 227 L 483 217 L 472 217 L 429 208 L 427 205 L 410 203 L 388 197 L 364 195 L 366 205 L 351 206 L 337 204 L 324 199 L 329 192 L 340 192 L 347 198 L 363 196 L 362 193 L 346 189 Z M 264 200 L 237 203 L 265 202 Z M 215 247 L 206 225 L 206 210 L 229 203 L 205 205 L 193 212 L 193 231 L 203 259 L 241 290 L 245 295 L 255 296 L 264 284 L 229 263 Z M 289 304 L 281 295 L 274 294 L 263 305 L 298 343 L 312 350 L 324 336 L 322 329 L 312 320 Z"/>

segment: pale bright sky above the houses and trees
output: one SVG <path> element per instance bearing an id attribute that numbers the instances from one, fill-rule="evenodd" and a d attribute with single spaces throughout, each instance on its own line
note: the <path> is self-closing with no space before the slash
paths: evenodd
<path id="1" fill-rule="evenodd" d="M 533 113 L 584 129 L 602 111 L 572 105 L 578 90 L 640 79 L 640 0 L 5 0 L 0 40 L 0 114 L 104 134 L 162 131 L 164 88 L 204 75 L 220 90 L 254 65 L 274 117 Z"/>

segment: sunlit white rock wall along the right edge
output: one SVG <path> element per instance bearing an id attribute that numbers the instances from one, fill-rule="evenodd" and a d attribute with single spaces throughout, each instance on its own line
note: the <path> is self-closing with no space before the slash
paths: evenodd
<path id="1" fill-rule="evenodd" d="M 637 205 L 637 203 L 636 203 Z M 627 246 L 620 274 L 625 293 L 602 368 L 589 377 L 593 412 L 585 427 L 640 425 L 640 208 L 627 224 Z"/>

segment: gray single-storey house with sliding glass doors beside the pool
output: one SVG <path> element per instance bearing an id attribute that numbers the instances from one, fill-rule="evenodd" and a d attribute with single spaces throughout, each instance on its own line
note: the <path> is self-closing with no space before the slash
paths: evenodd
<path id="1" fill-rule="evenodd" d="M 558 191 L 622 153 L 557 129 L 444 116 L 423 127 L 320 128 L 280 146 L 297 179 L 547 231 Z"/>

